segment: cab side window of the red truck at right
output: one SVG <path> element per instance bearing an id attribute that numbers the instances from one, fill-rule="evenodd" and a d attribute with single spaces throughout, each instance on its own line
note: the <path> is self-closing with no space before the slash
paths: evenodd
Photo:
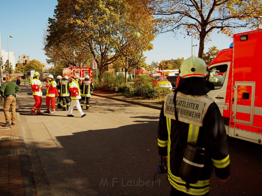
<path id="1" fill-rule="evenodd" d="M 209 70 L 208 81 L 214 83 L 215 89 L 220 89 L 224 84 L 226 74 L 227 65 L 219 65 L 212 67 Z"/>

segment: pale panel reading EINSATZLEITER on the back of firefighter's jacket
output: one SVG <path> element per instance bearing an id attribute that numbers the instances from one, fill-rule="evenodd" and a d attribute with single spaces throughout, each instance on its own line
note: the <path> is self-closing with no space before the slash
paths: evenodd
<path id="1" fill-rule="evenodd" d="M 181 117 L 195 122 L 201 122 L 204 106 L 204 102 L 191 100 L 187 98 L 176 98 L 176 110 L 178 113 L 178 119 L 179 117 Z M 167 96 L 165 113 L 174 116 L 174 110 L 174 97 Z"/>

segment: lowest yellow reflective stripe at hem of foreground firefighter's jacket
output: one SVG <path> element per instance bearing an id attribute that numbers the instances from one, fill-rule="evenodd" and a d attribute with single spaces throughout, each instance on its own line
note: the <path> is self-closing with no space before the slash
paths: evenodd
<path id="1" fill-rule="evenodd" d="M 172 186 L 174 186 L 174 188 L 176 188 L 177 190 L 182 191 L 184 193 L 190 194 L 190 195 L 203 195 L 203 194 L 206 194 L 209 191 L 209 186 L 204 187 L 202 189 L 194 189 L 194 188 L 191 188 L 191 187 L 189 189 L 187 189 L 186 186 L 179 185 L 179 184 L 175 183 L 174 181 L 172 181 L 170 179 L 169 175 L 167 176 L 167 178 L 168 178 L 170 184 Z"/>

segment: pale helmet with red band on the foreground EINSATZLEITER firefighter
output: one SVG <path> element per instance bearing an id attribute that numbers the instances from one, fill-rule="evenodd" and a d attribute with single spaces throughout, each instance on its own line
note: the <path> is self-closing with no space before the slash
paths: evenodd
<path id="1" fill-rule="evenodd" d="M 191 56 L 182 62 L 179 76 L 181 78 L 205 78 L 207 77 L 207 65 L 202 58 Z"/>

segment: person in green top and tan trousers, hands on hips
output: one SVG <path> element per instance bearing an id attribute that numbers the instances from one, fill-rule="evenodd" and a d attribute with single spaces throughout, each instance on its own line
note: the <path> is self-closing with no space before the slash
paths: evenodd
<path id="1" fill-rule="evenodd" d="M 14 125 L 15 123 L 16 97 L 18 96 L 17 93 L 20 90 L 21 88 L 14 82 L 11 82 L 11 77 L 7 75 L 6 82 L 2 84 L 1 89 L 0 89 L 0 94 L 1 96 L 4 97 L 4 100 L 5 100 L 3 112 L 6 117 L 6 124 L 4 124 L 3 126 L 11 126 L 11 125 Z M 11 107 L 12 118 L 10 118 L 9 107 Z"/>

